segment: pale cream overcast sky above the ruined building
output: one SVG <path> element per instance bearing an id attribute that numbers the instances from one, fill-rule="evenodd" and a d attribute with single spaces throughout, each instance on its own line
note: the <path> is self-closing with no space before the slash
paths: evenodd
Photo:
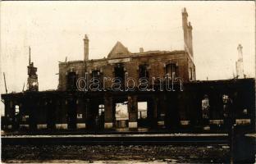
<path id="1" fill-rule="evenodd" d="M 181 9 L 193 26 L 197 80 L 229 79 L 237 46 L 244 47 L 245 74 L 254 77 L 254 2 L 1 2 L 1 83 L 21 92 L 27 81 L 29 46 L 39 90 L 57 89 L 58 61 L 107 57 L 117 41 L 130 52 L 183 48 Z"/>

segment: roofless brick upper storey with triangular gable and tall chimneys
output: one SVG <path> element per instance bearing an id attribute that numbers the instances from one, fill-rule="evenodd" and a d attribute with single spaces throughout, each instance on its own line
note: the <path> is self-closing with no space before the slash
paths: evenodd
<path id="1" fill-rule="evenodd" d="M 98 76 L 125 78 L 125 75 L 135 78 L 147 77 L 180 77 L 183 82 L 195 80 L 195 66 L 193 59 L 192 26 L 188 22 L 188 13 L 182 11 L 182 27 L 184 31 L 185 49 L 175 51 L 130 52 L 121 42 L 117 42 L 108 53 L 107 58 L 89 60 L 89 39 L 85 34 L 84 61 L 62 62 L 59 64 L 59 90 L 76 88 L 75 81 L 88 72 L 89 79 Z M 73 81 L 71 81 L 73 80 Z M 106 87 L 111 83 L 106 81 Z M 136 85 L 136 84 L 135 84 Z"/>

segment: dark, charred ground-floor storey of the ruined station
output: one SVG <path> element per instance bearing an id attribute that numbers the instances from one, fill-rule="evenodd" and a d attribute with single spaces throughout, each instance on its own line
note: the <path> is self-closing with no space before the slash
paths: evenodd
<path id="1" fill-rule="evenodd" d="M 231 112 L 237 120 L 249 121 L 245 127 L 254 130 L 255 127 L 255 82 L 254 79 L 243 80 L 217 80 L 195 81 L 184 84 L 184 91 L 163 92 L 135 92 L 130 95 L 126 92 L 25 92 L 2 94 L 5 103 L 5 117 L 2 125 L 11 129 L 22 128 L 28 125 L 30 129 L 44 125 L 48 129 L 78 128 L 77 124 L 83 124 L 84 128 L 94 127 L 95 115 L 98 113 L 98 104 L 105 104 L 105 121 L 113 123 L 114 115 L 111 103 L 118 98 L 132 99 L 131 102 L 147 101 L 149 104 L 149 123 L 156 124 L 160 121 L 160 114 L 165 115 L 167 128 L 179 127 L 181 121 L 189 121 L 190 127 L 202 125 L 202 99 L 208 95 L 210 103 L 210 120 L 223 120 L 222 96 L 228 95 L 232 99 Z M 108 99 L 107 99 L 108 98 Z M 116 98 L 116 99 L 115 99 Z M 112 99 L 112 101 L 111 101 Z M 78 101 L 77 101 L 78 100 Z M 20 107 L 16 114 L 15 107 Z M 135 104 L 133 105 L 135 107 Z M 108 108 L 107 108 L 108 107 Z M 136 107 L 135 107 L 136 108 Z M 108 110 L 108 111 L 106 111 Z M 83 114 L 82 118 L 76 118 L 76 113 Z M 108 115 L 106 115 L 108 113 Z M 136 114 L 130 118 L 135 123 Z M 25 116 L 29 116 L 23 121 Z M 74 116 L 74 121 L 68 118 Z M 135 124 L 132 125 L 135 125 Z M 86 124 L 86 127 L 85 127 Z M 240 125 L 240 123 L 238 122 Z M 88 126 L 87 126 L 88 125 Z M 91 125 L 91 126 L 89 126 Z M 217 126 L 218 130 L 222 130 Z M 150 127 L 153 125 L 150 125 Z M 38 128 L 39 129 L 39 128 Z M 246 130 L 246 129 L 245 129 Z"/>

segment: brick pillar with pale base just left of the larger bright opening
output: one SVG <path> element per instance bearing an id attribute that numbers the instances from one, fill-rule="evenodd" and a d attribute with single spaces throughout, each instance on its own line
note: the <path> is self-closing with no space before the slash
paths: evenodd
<path id="1" fill-rule="evenodd" d="M 104 97 L 104 107 L 105 107 L 105 116 L 104 116 L 104 128 L 111 129 L 113 127 L 113 112 L 112 112 L 112 97 L 105 95 Z"/>

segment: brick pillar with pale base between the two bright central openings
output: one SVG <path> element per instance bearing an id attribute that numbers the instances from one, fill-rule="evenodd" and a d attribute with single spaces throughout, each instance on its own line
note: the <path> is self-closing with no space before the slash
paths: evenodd
<path id="1" fill-rule="evenodd" d="M 137 96 L 128 96 L 129 128 L 138 127 Z"/>

